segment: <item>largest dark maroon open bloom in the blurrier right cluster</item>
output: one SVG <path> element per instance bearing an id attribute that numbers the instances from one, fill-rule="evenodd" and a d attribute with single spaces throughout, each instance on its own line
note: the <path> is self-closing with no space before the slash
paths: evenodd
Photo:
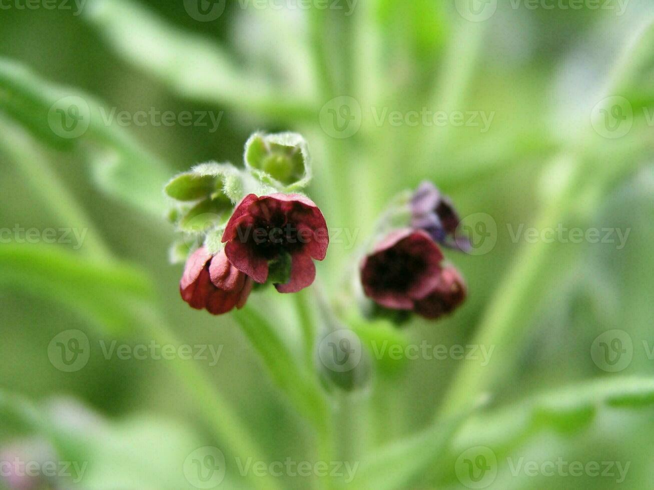
<path id="1" fill-rule="evenodd" d="M 394 231 L 361 265 L 364 293 L 386 308 L 413 310 L 438 286 L 442 260 L 443 253 L 424 231 Z"/>

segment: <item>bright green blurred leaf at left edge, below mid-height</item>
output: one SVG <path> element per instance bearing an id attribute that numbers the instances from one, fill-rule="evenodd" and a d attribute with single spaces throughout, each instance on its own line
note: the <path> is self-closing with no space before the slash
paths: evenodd
<path id="1" fill-rule="evenodd" d="M 0 247 L 0 287 L 70 306 L 110 332 L 128 329 L 136 321 L 135 308 L 155 297 L 150 281 L 133 267 L 99 263 L 42 244 Z"/>

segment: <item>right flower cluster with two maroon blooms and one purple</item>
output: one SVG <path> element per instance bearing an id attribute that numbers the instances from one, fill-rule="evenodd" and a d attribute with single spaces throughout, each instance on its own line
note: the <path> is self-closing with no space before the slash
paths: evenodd
<path id="1" fill-rule="evenodd" d="M 456 237 L 460 219 L 451 201 L 424 182 L 409 203 L 410 224 L 388 233 L 364 257 L 360 278 L 364 294 L 385 310 L 415 312 L 437 319 L 466 298 L 458 270 L 443 265 L 439 244 L 465 248 Z"/>

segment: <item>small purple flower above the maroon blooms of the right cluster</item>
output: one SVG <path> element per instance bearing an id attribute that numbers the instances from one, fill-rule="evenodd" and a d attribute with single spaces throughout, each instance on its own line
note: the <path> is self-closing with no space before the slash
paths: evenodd
<path id="1" fill-rule="evenodd" d="M 439 244 L 468 250 L 468 239 L 457 234 L 460 223 L 452 201 L 431 182 L 422 182 L 411 199 L 411 226 L 426 231 Z"/>

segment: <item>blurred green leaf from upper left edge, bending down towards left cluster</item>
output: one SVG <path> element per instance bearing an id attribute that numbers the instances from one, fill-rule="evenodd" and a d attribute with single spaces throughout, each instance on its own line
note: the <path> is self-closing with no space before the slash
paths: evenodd
<path id="1" fill-rule="evenodd" d="M 122 128 L 105 122 L 103 107 L 107 105 L 82 90 L 50 84 L 19 63 L 0 59 L 0 106 L 54 148 L 73 150 L 86 148 L 81 142 L 99 144 L 103 151 L 88 157 L 99 188 L 160 216 L 167 169 Z"/>

